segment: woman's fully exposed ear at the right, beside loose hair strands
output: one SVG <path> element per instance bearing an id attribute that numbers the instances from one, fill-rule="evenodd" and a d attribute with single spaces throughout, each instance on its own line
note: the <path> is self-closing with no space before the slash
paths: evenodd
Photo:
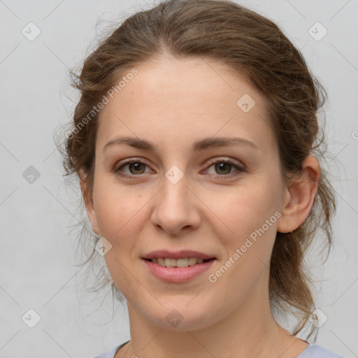
<path id="1" fill-rule="evenodd" d="M 302 166 L 302 173 L 289 180 L 282 202 L 277 226 L 277 231 L 282 233 L 294 231 L 306 220 L 317 194 L 320 164 L 315 157 L 308 156 Z"/>

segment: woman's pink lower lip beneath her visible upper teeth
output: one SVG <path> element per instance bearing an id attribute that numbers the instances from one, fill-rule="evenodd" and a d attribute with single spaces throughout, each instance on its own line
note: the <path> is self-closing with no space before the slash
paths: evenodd
<path id="1" fill-rule="evenodd" d="M 195 264 L 187 267 L 166 267 L 155 264 L 154 262 L 142 259 L 145 265 L 147 265 L 150 273 L 155 277 L 160 278 L 166 282 L 178 283 L 187 282 L 196 278 L 201 273 L 208 270 L 208 268 L 216 261 L 211 259 L 210 261 L 203 262 L 202 264 Z"/>

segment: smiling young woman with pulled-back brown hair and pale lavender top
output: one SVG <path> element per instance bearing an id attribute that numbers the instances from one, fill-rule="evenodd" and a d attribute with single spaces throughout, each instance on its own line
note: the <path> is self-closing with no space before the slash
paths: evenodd
<path id="1" fill-rule="evenodd" d="M 282 31 L 231 1 L 164 1 L 75 86 L 64 166 L 131 331 L 99 357 L 340 357 L 296 337 L 320 326 L 303 254 L 317 229 L 331 244 L 335 199 L 325 92 Z"/>

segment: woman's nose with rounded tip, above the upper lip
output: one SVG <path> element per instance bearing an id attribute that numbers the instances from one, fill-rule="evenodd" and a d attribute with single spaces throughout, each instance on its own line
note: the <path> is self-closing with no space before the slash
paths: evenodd
<path id="1" fill-rule="evenodd" d="M 174 184 L 163 178 L 162 189 L 155 196 L 152 223 L 167 234 L 181 234 L 196 229 L 200 224 L 198 197 L 187 186 L 186 176 Z"/>

